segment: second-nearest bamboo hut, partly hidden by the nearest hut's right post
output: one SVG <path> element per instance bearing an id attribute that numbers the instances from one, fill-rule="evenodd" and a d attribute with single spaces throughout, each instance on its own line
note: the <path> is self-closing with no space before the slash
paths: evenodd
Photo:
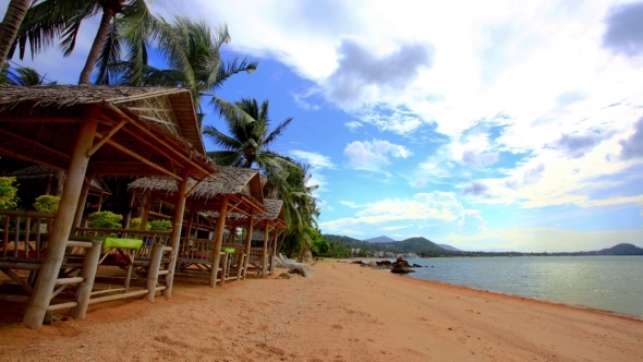
<path id="1" fill-rule="evenodd" d="M 146 196 L 143 220 L 147 219 L 151 200 L 174 204 L 178 192 L 175 183 L 167 178 L 138 179 L 130 184 L 130 190 Z M 217 282 L 223 285 L 226 280 L 238 279 L 247 255 L 241 245 L 223 245 L 226 215 L 233 213 L 253 220 L 256 215 L 266 213 L 258 170 L 219 167 L 217 174 L 203 182 L 190 183 L 189 190 L 186 207 L 190 218 L 179 246 L 177 275 L 209 278 L 210 287 L 215 287 Z M 222 218 L 215 219 L 214 240 L 193 236 L 195 217 L 199 212 L 211 210 L 223 215 Z M 251 224 L 246 222 L 244 227 L 252 233 Z M 234 273 L 231 273 L 232 269 Z"/>

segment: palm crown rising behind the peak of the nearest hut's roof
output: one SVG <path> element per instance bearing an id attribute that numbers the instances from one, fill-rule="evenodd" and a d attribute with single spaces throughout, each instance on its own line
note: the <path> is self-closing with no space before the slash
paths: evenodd
<path id="1" fill-rule="evenodd" d="M 143 74 L 137 77 L 130 70 L 129 62 L 112 65 L 120 79 L 119 83 L 133 86 L 175 86 L 186 87 L 192 92 L 197 113 L 201 111 L 203 96 L 213 96 L 214 92 L 232 75 L 240 72 L 252 73 L 257 62 L 247 59 L 232 60 L 223 63 L 220 48 L 230 41 L 228 27 L 222 25 L 213 29 L 205 21 L 194 22 L 187 17 L 177 16 L 173 23 L 159 22 L 158 47 L 169 69 L 160 70 L 149 65 L 143 67 Z"/>

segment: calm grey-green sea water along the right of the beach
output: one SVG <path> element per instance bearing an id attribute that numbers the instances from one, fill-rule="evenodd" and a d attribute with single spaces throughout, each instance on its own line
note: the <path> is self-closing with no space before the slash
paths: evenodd
<path id="1" fill-rule="evenodd" d="M 413 258 L 413 278 L 643 318 L 643 256 Z M 432 267 L 433 266 L 433 267 Z"/>

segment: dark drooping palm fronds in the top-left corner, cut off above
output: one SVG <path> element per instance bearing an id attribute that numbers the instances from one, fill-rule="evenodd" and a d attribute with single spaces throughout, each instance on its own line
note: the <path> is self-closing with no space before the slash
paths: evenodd
<path id="1" fill-rule="evenodd" d="M 35 2 L 35 1 L 34 1 Z M 100 24 L 92 44 L 78 84 L 88 84 L 98 65 L 97 83 L 109 77 L 108 64 L 120 59 L 121 46 L 128 47 L 132 72 L 141 74 L 147 62 L 145 41 L 158 32 L 157 20 L 144 0 L 45 0 L 33 5 L 25 15 L 9 57 L 19 48 L 24 59 L 29 43 L 32 57 L 48 48 L 54 38 L 68 57 L 74 50 L 83 21 L 100 14 Z"/>

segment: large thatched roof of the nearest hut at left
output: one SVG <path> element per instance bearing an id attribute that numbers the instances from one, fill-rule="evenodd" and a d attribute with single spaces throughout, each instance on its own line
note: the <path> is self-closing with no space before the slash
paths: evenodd
<path id="1" fill-rule="evenodd" d="M 99 174 L 214 172 L 191 93 L 181 88 L 0 85 L 0 156 L 65 170 L 87 117 L 99 121 L 98 138 L 118 130 L 92 156 L 89 167 Z"/>

